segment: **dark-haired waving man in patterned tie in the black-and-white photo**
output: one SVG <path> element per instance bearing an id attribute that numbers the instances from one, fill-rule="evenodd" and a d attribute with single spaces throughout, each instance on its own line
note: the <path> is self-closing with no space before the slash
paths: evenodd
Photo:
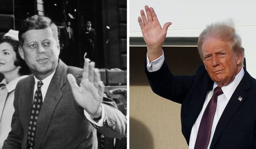
<path id="1" fill-rule="evenodd" d="M 112 138 L 125 136 L 126 118 L 103 97 L 94 62 L 86 59 L 82 70 L 58 59 L 53 21 L 38 15 L 26 19 L 19 39 L 19 53 L 33 74 L 16 86 L 3 149 L 97 149 L 96 129 Z"/>

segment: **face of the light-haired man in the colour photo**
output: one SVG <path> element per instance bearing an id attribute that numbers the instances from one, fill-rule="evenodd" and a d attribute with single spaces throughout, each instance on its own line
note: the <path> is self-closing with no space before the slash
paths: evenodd
<path id="1" fill-rule="evenodd" d="M 241 70 L 242 54 L 232 50 L 232 44 L 217 38 L 207 39 L 202 45 L 205 68 L 218 87 L 227 86 Z"/>

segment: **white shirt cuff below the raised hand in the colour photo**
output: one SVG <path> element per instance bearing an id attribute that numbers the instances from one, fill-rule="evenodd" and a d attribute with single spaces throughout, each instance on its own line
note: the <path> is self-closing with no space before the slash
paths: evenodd
<path id="1" fill-rule="evenodd" d="M 163 50 L 162 50 L 163 51 Z M 164 55 L 162 54 L 161 57 L 155 59 L 154 61 L 150 62 L 147 56 L 147 71 L 148 72 L 156 72 L 158 71 L 164 62 Z"/>

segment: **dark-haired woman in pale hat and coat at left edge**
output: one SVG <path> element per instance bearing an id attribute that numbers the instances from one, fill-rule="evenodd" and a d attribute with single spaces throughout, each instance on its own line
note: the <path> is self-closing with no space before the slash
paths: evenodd
<path id="1" fill-rule="evenodd" d="M 11 118 L 14 113 L 13 100 L 17 82 L 27 77 L 30 70 L 18 52 L 18 31 L 10 30 L 0 37 L 0 149 L 11 131 Z"/>

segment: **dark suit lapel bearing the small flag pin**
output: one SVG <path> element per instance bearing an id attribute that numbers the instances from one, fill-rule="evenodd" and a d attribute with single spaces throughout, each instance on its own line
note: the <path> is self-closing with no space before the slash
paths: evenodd
<path id="1" fill-rule="evenodd" d="M 230 119 L 233 117 L 234 113 L 236 113 L 236 111 L 240 108 L 240 106 L 248 97 L 245 90 L 251 88 L 251 80 L 252 77 L 249 75 L 248 72 L 245 71 L 244 77 L 242 78 L 239 85 L 236 87 L 232 97 L 229 99 L 229 103 L 227 104 L 218 121 L 217 127 L 212 138 L 210 149 L 213 149 L 214 145 L 217 143 L 220 135 L 222 134 L 226 125 L 229 123 Z M 238 100 L 238 98 L 240 97 L 242 98 L 241 101 Z"/>

